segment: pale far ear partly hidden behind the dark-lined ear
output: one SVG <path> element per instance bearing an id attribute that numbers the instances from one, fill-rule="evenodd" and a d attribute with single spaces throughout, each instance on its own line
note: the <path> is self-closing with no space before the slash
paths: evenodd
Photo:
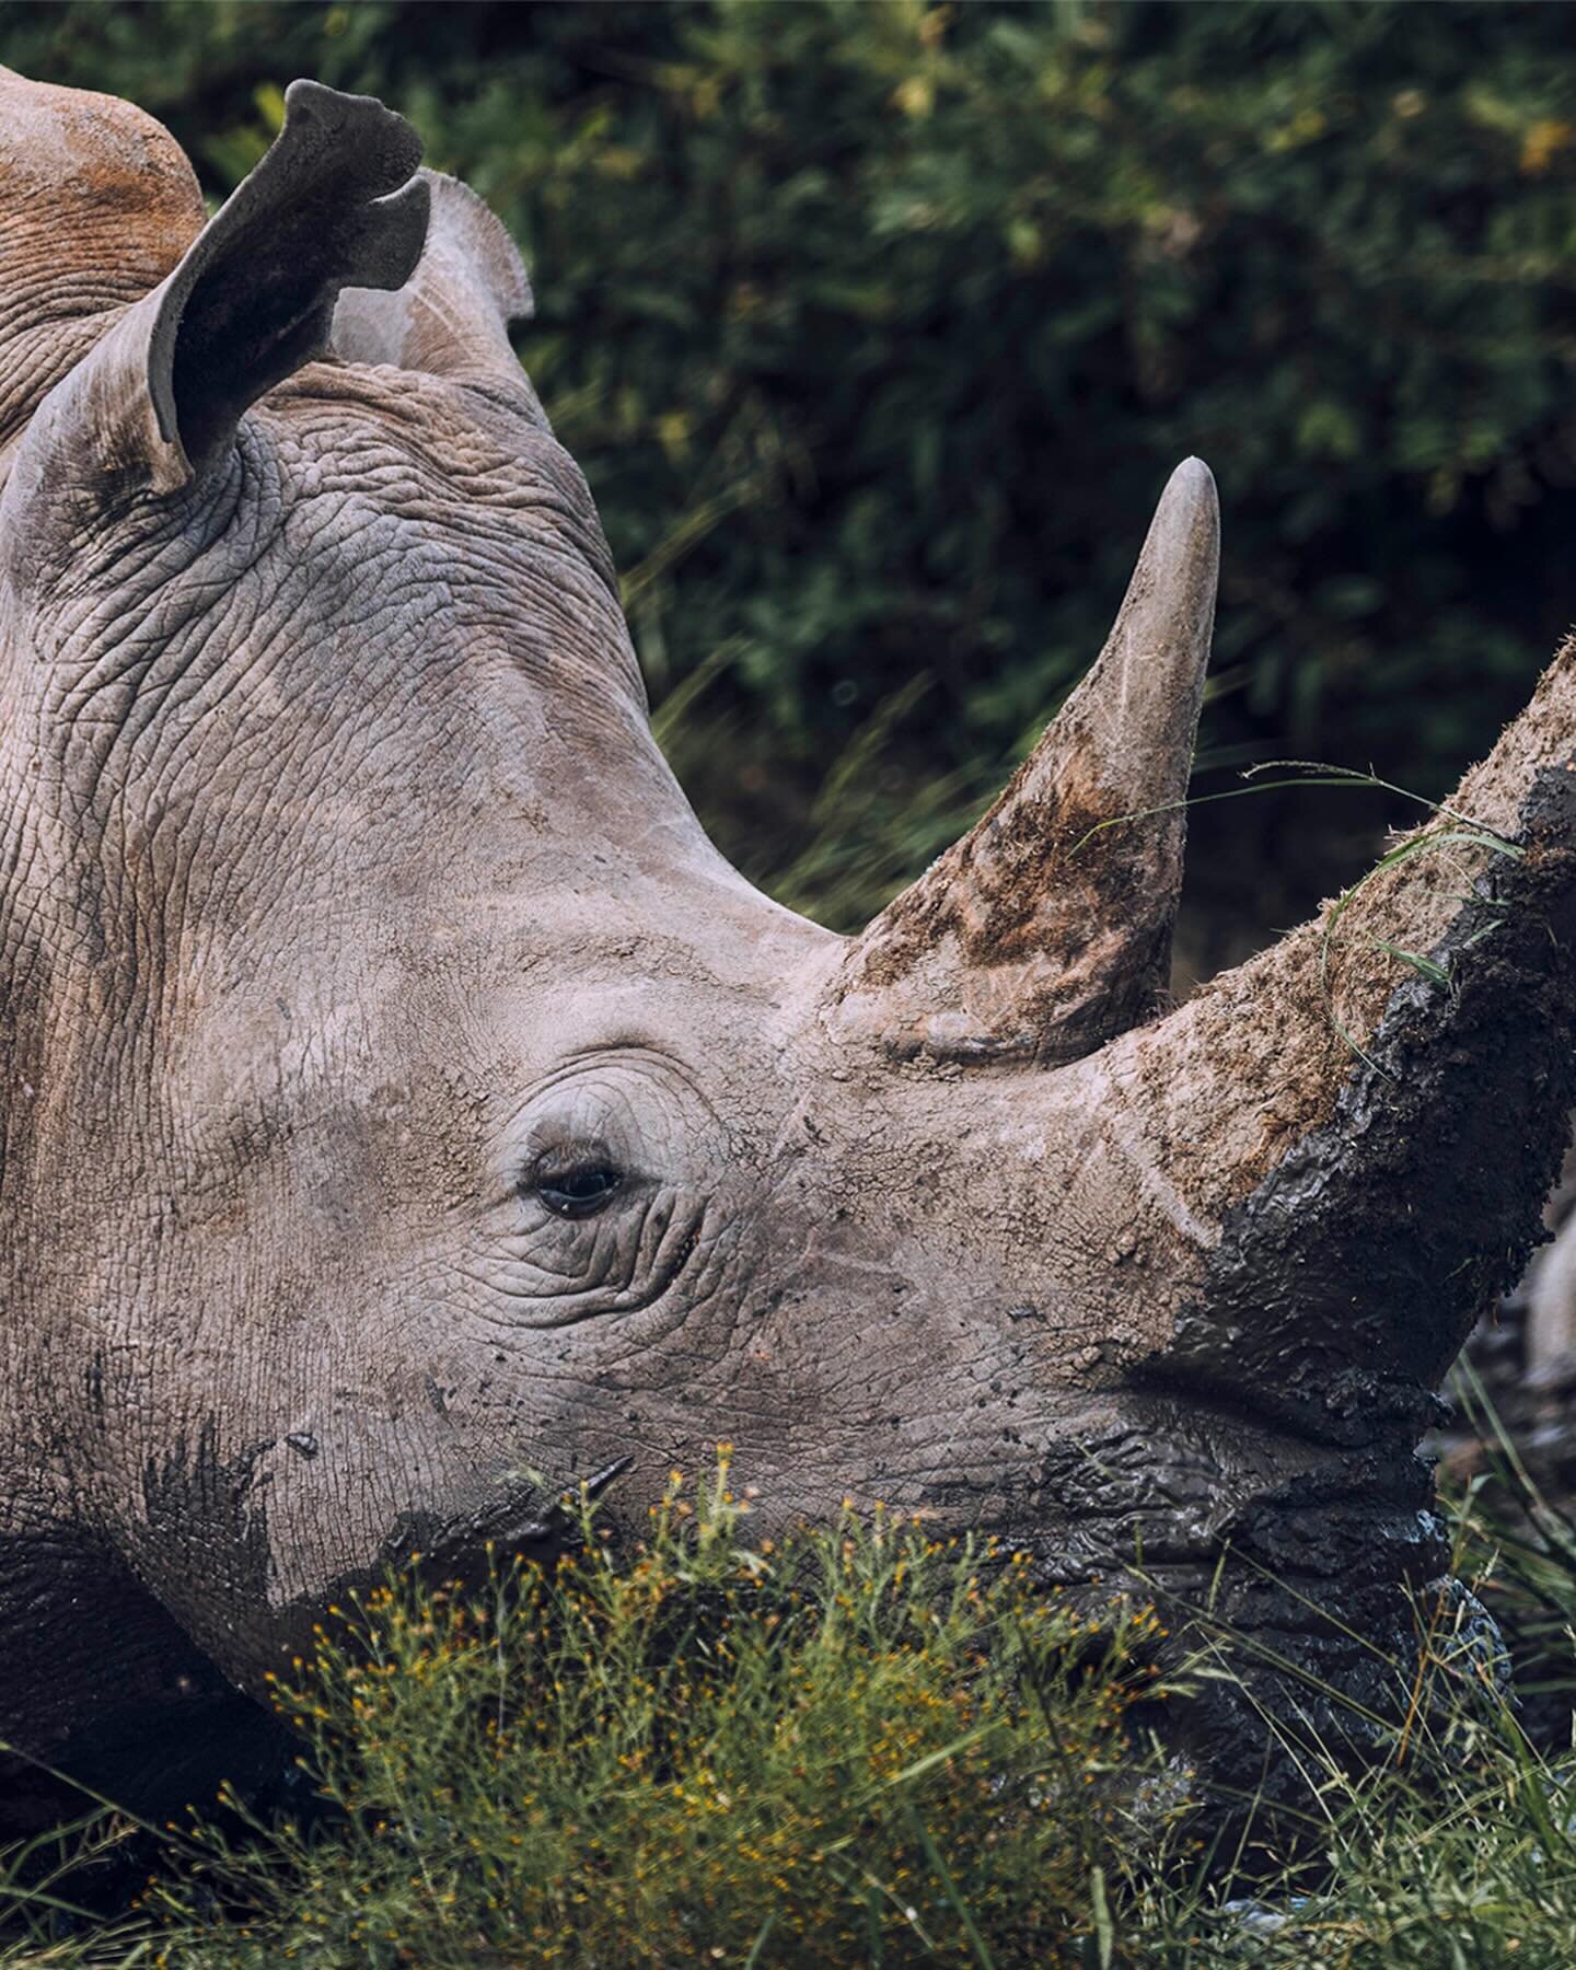
<path id="1" fill-rule="evenodd" d="M 508 341 L 510 327 L 532 315 L 518 248 L 469 185 L 441 171 L 422 171 L 422 181 L 431 193 L 431 223 L 416 272 L 398 292 L 347 288 L 333 317 L 333 351 L 347 362 L 502 384 L 540 418 Z"/>

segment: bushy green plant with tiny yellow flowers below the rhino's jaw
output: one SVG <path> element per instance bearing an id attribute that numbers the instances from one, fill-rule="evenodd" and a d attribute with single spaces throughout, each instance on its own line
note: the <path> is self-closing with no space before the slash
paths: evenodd
<path id="1" fill-rule="evenodd" d="M 556 1570 L 347 1609 L 278 1700 L 333 1820 L 173 1842 L 158 1960 L 1064 1956 L 1145 1767 L 1125 1714 L 1164 1694 L 1154 1615 L 1097 1631 L 886 1513 L 751 1548 L 747 1511 L 723 1450 L 634 1556 L 585 1509 Z"/>

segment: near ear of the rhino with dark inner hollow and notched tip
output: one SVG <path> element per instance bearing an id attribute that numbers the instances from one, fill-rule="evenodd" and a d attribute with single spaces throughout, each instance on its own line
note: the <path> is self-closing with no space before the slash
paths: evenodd
<path id="1" fill-rule="evenodd" d="M 290 85 L 272 150 L 140 303 L 156 491 L 189 485 L 250 404 L 327 351 L 341 288 L 410 280 L 429 211 L 420 158 L 372 97 Z"/>

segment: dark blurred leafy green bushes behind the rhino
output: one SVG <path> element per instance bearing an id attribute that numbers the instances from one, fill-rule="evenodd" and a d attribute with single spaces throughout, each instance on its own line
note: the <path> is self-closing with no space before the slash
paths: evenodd
<path id="1" fill-rule="evenodd" d="M 1562 6 L 69 0 L 0 8 L 0 59 L 142 102 L 215 197 L 294 75 L 483 191 L 660 737 L 839 926 L 1032 743 L 1190 451 L 1225 512 L 1200 792 L 1296 755 L 1438 796 L 1576 613 Z M 1182 983 L 1391 818 L 1202 808 Z"/>

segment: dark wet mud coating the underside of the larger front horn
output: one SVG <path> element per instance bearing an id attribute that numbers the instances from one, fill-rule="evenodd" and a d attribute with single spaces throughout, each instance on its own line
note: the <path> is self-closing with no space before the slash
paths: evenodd
<path id="1" fill-rule="evenodd" d="M 1412 1440 L 1474 1320 L 1543 1237 L 1576 1103 L 1576 760 L 1543 768 L 1409 975 L 1334 1117 L 1233 1206 L 1156 1373 L 1227 1383 L 1328 1444 Z"/>

